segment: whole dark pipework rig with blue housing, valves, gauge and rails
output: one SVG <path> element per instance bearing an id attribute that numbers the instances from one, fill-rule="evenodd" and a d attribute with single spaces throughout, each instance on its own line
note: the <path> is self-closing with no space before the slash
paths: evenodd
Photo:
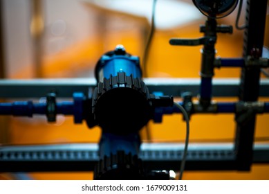
<path id="1" fill-rule="evenodd" d="M 44 114 L 53 122 L 57 114 L 73 115 L 75 123 L 99 125 L 99 144 L 2 145 L 1 172 L 86 171 L 95 179 L 170 179 L 169 170 L 250 170 L 253 163 L 269 163 L 269 144 L 254 144 L 257 114 L 269 112 L 269 81 L 260 79 L 260 69 L 269 67 L 261 58 L 267 0 L 248 0 L 242 58 L 216 58 L 218 33 L 232 33 L 232 26 L 218 25 L 236 8 L 236 1 L 193 0 L 207 16 L 198 39 L 170 39 L 174 46 L 203 45 L 201 81 L 142 79 L 139 58 L 124 46 L 102 55 L 95 68 L 96 80 L 82 85 L 75 80 L 0 80 L 1 98 L 35 98 L 47 94 L 46 102 L 0 103 L 0 114 L 33 116 Z M 242 0 L 240 1 L 241 5 Z M 241 68 L 240 82 L 216 80 L 214 69 Z M 89 80 L 88 80 L 89 81 Z M 200 88 L 200 90 L 199 90 Z M 24 91 L 24 92 L 19 92 Z M 79 91 L 79 92 L 77 92 Z M 166 96 L 164 96 L 165 94 Z M 71 97 L 73 101 L 57 102 Z M 181 102 L 174 98 L 182 97 Z M 193 96 L 198 96 L 194 102 Z M 212 102 L 214 96 L 238 96 L 238 102 Z M 150 120 L 161 123 L 164 114 L 183 113 L 187 123 L 193 114 L 235 114 L 236 136 L 230 144 L 141 143 L 140 130 Z M 186 161 L 186 165 L 185 165 Z M 181 164 L 181 166 L 180 166 Z"/>

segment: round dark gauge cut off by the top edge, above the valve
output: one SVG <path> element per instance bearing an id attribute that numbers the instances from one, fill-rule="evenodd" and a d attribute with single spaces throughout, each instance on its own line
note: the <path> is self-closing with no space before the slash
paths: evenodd
<path id="1" fill-rule="evenodd" d="M 225 17 L 236 8 L 238 0 L 193 0 L 195 6 L 207 17 Z"/>

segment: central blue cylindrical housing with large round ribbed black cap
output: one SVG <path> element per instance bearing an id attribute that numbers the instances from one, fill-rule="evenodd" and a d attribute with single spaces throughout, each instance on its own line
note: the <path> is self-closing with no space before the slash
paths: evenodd
<path id="1" fill-rule="evenodd" d="M 114 51 L 104 53 L 95 67 L 95 78 L 98 82 L 98 87 L 104 85 L 106 87 L 107 80 L 114 80 L 119 75 L 124 73 L 124 79 L 132 76 L 133 79 L 140 79 L 142 71 L 140 69 L 140 60 L 137 56 L 130 55 L 125 51 L 124 46 L 118 45 Z M 100 84 L 102 82 L 102 84 Z M 101 87 L 101 88 L 103 88 Z M 125 154 L 138 155 L 140 148 L 140 135 L 138 127 L 136 130 L 131 130 L 133 127 L 127 126 L 129 123 L 138 122 L 137 116 L 140 112 L 148 112 L 146 109 L 139 109 L 147 103 L 146 96 L 140 94 L 135 87 L 129 88 L 125 85 L 118 85 L 113 89 L 105 92 L 98 98 L 95 105 L 95 114 L 97 115 L 100 127 L 102 127 L 102 136 L 100 139 L 100 158 L 117 155 L 118 151 L 124 151 Z M 139 98 L 138 98 L 139 97 Z M 145 98 L 145 99 L 144 99 Z M 111 103 L 113 102 L 113 103 Z M 129 104 L 129 102 L 133 102 Z M 133 106 L 138 103 L 138 105 Z M 131 110 L 131 112 L 130 112 Z M 128 119 L 131 119 L 129 121 Z M 144 124 L 143 124 L 144 125 Z M 108 129 L 109 128 L 109 129 Z M 120 133 L 118 132 L 120 130 Z M 121 133 L 123 132 L 123 133 Z M 120 142 L 120 143 L 119 143 Z"/>

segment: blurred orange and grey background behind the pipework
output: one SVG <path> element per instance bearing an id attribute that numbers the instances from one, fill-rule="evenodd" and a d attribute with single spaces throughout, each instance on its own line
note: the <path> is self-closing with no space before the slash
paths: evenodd
<path id="1" fill-rule="evenodd" d="M 20 1 L 20 2 L 18 2 Z M 35 0 L 33 0 L 35 1 Z M 149 33 L 150 21 L 145 15 L 113 10 L 101 1 L 103 6 L 95 1 L 28 1 L 21 15 L 26 16 L 25 23 L 17 24 L 19 12 L 15 12 L 21 0 L 4 0 L 3 10 L 6 23 L 8 66 L 7 78 L 89 78 L 93 77 L 95 63 L 106 51 L 115 45 L 123 44 L 132 55 L 143 55 L 145 42 Z M 151 2 L 151 1 L 150 1 Z M 170 46 L 171 37 L 201 37 L 199 25 L 204 24 L 205 17 L 194 8 L 192 1 L 173 1 L 180 6 L 186 6 L 197 16 L 192 19 L 174 18 L 174 26 L 163 27 L 158 24 L 160 17 L 169 12 L 160 8 L 165 1 L 158 1 L 156 8 L 156 32 L 149 52 L 147 74 L 154 78 L 199 78 L 201 67 L 201 46 Z M 6 4 L 5 4 L 6 3 Z M 33 12 L 33 3 L 41 6 L 41 12 Z M 133 3 L 136 3 L 135 1 Z M 182 5 L 180 3 L 183 3 Z M 36 5 L 36 4 L 35 4 Z M 162 4 L 163 5 L 163 4 Z M 151 3 L 147 3 L 151 12 Z M 28 10 L 28 11 L 27 11 Z M 124 9 L 123 9 L 124 10 Z M 174 9 L 175 10 L 175 9 Z M 10 13 L 13 12 L 13 15 Z M 242 11 L 241 23 L 244 21 Z M 39 14 L 38 14 L 39 13 Z M 236 10 L 228 17 L 219 19 L 219 24 L 234 26 Z M 176 12 L 169 12 L 169 15 Z M 12 15 L 12 16 L 11 16 Z M 27 16 L 28 15 L 28 16 Z M 158 15 L 158 17 L 157 17 Z M 38 19 L 35 19 L 37 17 Z M 10 19 L 10 20 L 9 20 Z M 176 23 L 176 20 L 187 22 Z M 32 22 L 32 23 L 31 23 Z M 34 23 L 34 24 L 33 24 Z M 13 26 L 12 26 L 13 25 Z M 19 26 L 21 28 L 18 30 Z M 16 30 L 17 29 L 17 30 Z M 9 31 L 10 30 L 10 31 Z M 14 30 L 14 31 L 12 31 Z M 10 34 L 11 33 L 11 34 Z M 21 34 L 24 34 L 22 37 Z M 269 47 L 269 15 L 266 17 L 266 37 L 264 44 Z M 9 39 L 28 39 L 14 45 Z M 39 49 L 35 49 L 39 46 Z M 18 48 L 19 47 L 19 48 Z M 19 55 L 20 49 L 28 49 L 28 54 Z M 243 30 L 234 28 L 233 35 L 218 36 L 216 44 L 217 55 L 223 58 L 241 57 L 243 53 Z M 12 57 L 11 57 L 12 56 Z M 143 60 L 141 58 L 141 60 Z M 19 64 L 17 64 L 19 62 Z M 37 62 L 39 65 L 37 65 Z M 39 68 L 39 70 L 37 70 Z M 37 75 L 39 74 L 39 75 Z M 216 69 L 214 78 L 239 78 L 239 69 Z M 263 77 L 263 76 L 262 76 Z M 264 78 L 264 77 L 263 77 Z M 45 96 L 46 94 L 44 94 Z M 216 100 L 236 100 L 236 98 Z M 269 100 L 269 98 L 261 98 Z M 269 116 L 257 116 L 256 137 L 269 137 Z M 6 136 L 2 143 L 36 144 L 36 143 L 75 143 L 98 142 L 100 128 L 89 130 L 86 124 L 73 124 L 72 117 L 58 116 L 57 123 L 48 124 L 44 116 L 33 118 L 12 118 L 2 116 L 1 123 L 6 123 Z M 2 125 L 4 126 L 4 125 Z M 207 139 L 232 139 L 235 134 L 234 115 L 194 115 L 190 123 L 190 142 Z M 165 116 L 162 124 L 149 123 L 152 141 L 184 141 L 185 123 L 180 115 Z M 141 132 L 146 141 L 145 131 Z M 0 143 L 1 143 L 0 142 Z M 92 179 L 92 173 L 29 173 L 33 179 Z M 9 179 L 8 174 L 2 175 Z M 253 165 L 250 172 L 186 172 L 183 179 L 269 179 L 269 165 Z"/>

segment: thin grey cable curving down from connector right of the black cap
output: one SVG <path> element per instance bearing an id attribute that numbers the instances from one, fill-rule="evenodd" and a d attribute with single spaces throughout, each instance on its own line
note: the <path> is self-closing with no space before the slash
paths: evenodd
<path id="1" fill-rule="evenodd" d="M 185 148 L 184 148 L 184 152 L 183 152 L 183 157 L 181 160 L 181 166 L 180 166 L 180 174 L 178 179 L 181 180 L 183 177 L 183 172 L 185 169 L 185 163 L 186 163 L 186 159 L 187 159 L 187 147 L 189 145 L 189 116 L 187 114 L 187 112 L 185 111 L 184 107 L 179 105 L 178 103 L 174 103 L 174 105 L 176 107 L 178 107 L 178 109 L 180 109 L 180 111 L 183 113 L 183 116 L 185 118 L 186 121 L 186 139 L 185 139 Z"/>

